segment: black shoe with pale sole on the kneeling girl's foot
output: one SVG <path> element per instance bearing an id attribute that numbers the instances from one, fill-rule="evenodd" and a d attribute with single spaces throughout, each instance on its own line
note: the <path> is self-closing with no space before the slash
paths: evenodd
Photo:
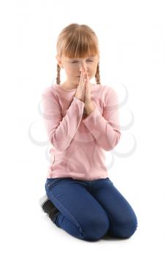
<path id="1" fill-rule="evenodd" d="M 50 219 L 54 222 L 56 218 L 56 214 L 59 212 L 59 209 L 53 205 L 53 203 L 48 199 L 48 196 L 45 195 L 39 200 L 40 206 L 42 210 L 45 211 L 46 214 L 49 215 Z"/>

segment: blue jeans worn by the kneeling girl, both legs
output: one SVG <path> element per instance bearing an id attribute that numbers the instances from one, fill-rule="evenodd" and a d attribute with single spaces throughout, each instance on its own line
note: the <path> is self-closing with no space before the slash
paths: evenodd
<path id="1" fill-rule="evenodd" d="M 75 238 L 129 238 L 137 229 L 135 212 L 110 178 L 47 178 L 45 190 L 59 209 L 53 222 Z"/>

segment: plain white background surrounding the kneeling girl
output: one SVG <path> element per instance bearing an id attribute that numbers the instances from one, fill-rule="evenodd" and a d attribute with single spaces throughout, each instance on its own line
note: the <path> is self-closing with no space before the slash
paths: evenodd
<path id="1" fill-rule="evenodd" d="M 165 255 L 165 1 L 1 1 L 0 10 L 1 255 Z M 69 23 L 94 29 L 101 83 L 120 102 L 128 94 L 121 140 L 107 152 L 109 164 L 136 141 L 109 169 L 137 215 L 127 240 L 81 241 L 39 207 L 49 165 L 39 102 L 56 78 L 56 38 Z"/>

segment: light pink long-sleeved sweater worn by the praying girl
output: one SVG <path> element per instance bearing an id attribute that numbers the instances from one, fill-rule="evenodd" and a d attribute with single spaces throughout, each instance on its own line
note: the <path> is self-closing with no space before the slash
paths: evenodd
<path id="1" fill-rule="evenodd" d="M 52 159 L 47 178 L 107 178 L 104 151 L 113 149 L 121 137 L 116 91 L 110 86 L 91 86 L 95 109 L 84 118 L 84 102 L 75 92 L 53 84 L 42 93 L 42 116 Z"/>

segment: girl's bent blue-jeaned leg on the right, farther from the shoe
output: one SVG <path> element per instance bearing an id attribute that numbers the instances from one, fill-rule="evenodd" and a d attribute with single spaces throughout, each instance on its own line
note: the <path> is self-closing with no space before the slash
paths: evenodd
<path id="1" fill-rule="evenodd" d="M 129 238 L 137 229 L 137 217 L 123 195 L 109 178 L 98 180 L 91 194 L 105 209 L 110 220 L 108 234 L 118 238 Z"/>

